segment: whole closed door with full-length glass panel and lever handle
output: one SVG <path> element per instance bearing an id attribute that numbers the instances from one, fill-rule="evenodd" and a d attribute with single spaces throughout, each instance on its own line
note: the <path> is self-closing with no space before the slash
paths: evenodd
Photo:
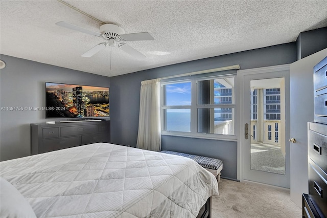
<path id="1" fill-rule="evenodd" d="M 243 77 L 244 180 L 289 188 L 288 79 L 289 71 Z"/>

